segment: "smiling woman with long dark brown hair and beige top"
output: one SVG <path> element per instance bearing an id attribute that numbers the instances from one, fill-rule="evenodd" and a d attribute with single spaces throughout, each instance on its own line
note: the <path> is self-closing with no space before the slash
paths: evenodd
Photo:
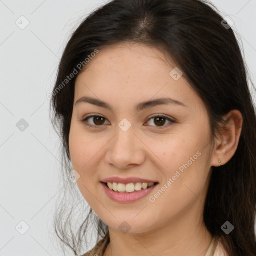
<path id="1" fill-rule="evenodd" d="M 71 239 L 64 207 L 55 218 L 75 255 L 89 223 L 97 244 L 83 255 L 255 255 L 255 110 L 209 3 L 99 7 L 66 44 L 51 106 L 64 176 L 90 206 Z"/>

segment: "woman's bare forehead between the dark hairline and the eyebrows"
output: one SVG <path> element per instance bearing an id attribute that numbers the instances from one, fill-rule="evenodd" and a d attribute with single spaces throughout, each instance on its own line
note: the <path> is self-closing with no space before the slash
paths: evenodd
<path id="1" fill-rule="evenodd" d="M 171 58 L 158 48 L 140 43 L 123 43 L 99 49 L 75 80 L 75 99 L 88 94 L 104 101 L 141 102 L 170 96 L 188 105 L 200 99 L 187 80 L 174 80 Z"/>

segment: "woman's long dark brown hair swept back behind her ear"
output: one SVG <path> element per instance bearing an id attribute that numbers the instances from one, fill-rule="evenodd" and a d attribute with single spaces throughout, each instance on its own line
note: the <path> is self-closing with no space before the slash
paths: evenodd
<path id="1" fill-rule="evenodd" d="M 65 46 L 52 90 L 51 120 L 61 138 L 62 170 L 66 177 L 72 169 L 68 134 L 77 74 L 68 81 L 66 76 L 74 73 L 77 64 L 84 63 L 91 52 L 107 45 L 131 41 L 161 48 L 203 100 L 212 137 L 219 132 L 224 114 L 231 109 L 242 114 L 242 130 L 234 155 L 225 164 L 211 167 L 203 220 L 209 232 L 220 237 L 229 256 L 255 256 L 256 115 L 241 49 L 232 27 L 222 19 L 205 0 L 112 0 L 98 7 L 79 24 Z M 97 241 L 108 237 L 108 229 L 89 207 L 87 213 L 82 210 L 78 214 L 80 222 L 74 234 L 70 216 L 77 206 L 75 199 L 83 202 L 83 198 L 78 196 L 75 183 L 65 180 L 65 189 L 76 191 L 77 195 L 65 206 L 60 200 L 54 225 L 63 244 L 77 255 L 91 230 L 89 224 L 96 228 Z M 64 216 L 68 208 L 68 216 Z M 234 226 L 229 234 L 220 228 L 227 220 Z"/>

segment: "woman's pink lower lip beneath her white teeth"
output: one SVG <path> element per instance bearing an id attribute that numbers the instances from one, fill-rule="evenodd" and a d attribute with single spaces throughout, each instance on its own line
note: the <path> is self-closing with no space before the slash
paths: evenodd
<path id="1" fill-rule="evenodd" d="M 157 185 L 158 183 L 146 188 L 146 189 L 141 189 L 138 191 L 133 191 L 133 192 L 118 192 L 110 189 L 104 182 L 101 182 L 103 185 L 103 188 L 106 192 L 106 194 L 110 197 L 110 199 L 116 201 L 116 202 L 134 202 L 142 197 L 146 196 L 149 194 Z"/>

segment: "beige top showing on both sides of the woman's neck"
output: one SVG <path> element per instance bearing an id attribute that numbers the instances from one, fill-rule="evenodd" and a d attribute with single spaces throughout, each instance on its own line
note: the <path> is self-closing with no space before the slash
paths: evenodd
<path id="1" fill-rule="evenodd" d="M 92 249 L 85 252 L 81 256 L 102 256 L 108 242 L 109 242 L 109 237 L 102 238 L 95 244 L 95 246 Z M 218 241 L 218 238 L 213 236 L 210 242 L 210 245 L 203 256 L 226 256 L 224 248 L 222 247 L 221 243 Z"/>

